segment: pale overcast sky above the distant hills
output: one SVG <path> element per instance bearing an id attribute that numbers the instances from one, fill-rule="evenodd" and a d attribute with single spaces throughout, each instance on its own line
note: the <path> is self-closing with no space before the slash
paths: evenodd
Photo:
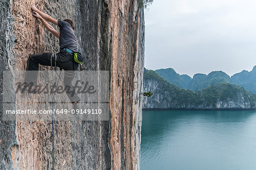
<path id="1" fill-rule="evenodd" d="M 256 65 L 256 1 L 154 0 L 145 10 L 146 69 L 229 76 Z"/>

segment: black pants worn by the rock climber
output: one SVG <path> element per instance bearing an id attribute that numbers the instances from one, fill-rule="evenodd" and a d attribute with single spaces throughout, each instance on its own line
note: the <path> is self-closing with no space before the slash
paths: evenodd
<path id="1" fill-rule="evenodd" d="M 38 71 L 39 64 L 51 66 L 51 56 L 52 53 L 39 53 L 35 55 L 30 55 L 27 60 L 27 71 Z M 53 66 L 55 66 L 53 64 Z M 75 88 L 73 87 L 72 81 L 75 76 L 75 71 L 77 70 L 79 64 L 73 60 L 72 53 L 69 52 L 59 52 L 56 53 L 56 66 L 64 69 L 64 86 L 65 92 L 71 102 L 79 102 L 80 98 L 77 96 L 75 92 Z M 33 86 L 37 85 L 38 81 L 38 72 L 26 72 L 25 82 L 32 82 Z M 74 90 L 74 91 L 73 91 Z"/>

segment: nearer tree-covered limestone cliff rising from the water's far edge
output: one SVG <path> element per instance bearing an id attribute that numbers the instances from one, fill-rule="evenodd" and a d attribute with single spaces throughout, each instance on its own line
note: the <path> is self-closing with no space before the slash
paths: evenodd
<path id="1" fill-rule="evenodd" d="M 256 96 L 233 84 L 216 84 L 198 92 L 180 89 L 154 71 L 145 71 L 143 109 L 256 109 Z"/>

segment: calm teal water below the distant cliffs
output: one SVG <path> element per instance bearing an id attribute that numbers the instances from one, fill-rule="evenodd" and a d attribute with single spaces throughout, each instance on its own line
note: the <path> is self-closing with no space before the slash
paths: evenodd
<path id="1" fill-rule="evenodd" d="M 143 111 L 141 169 L 256 169 L 256 111 Z"/>

